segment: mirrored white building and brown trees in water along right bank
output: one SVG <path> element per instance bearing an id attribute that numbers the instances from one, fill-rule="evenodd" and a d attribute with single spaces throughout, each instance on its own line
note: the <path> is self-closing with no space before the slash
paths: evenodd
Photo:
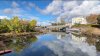
<path id="1" fill-rule="evenodd" d="M 76 37 L 77 35 L 72 35 L 74 37 Z M 100 37 L 98 36 L 85 36 L 85 35 L 78 35 L 77 36 L 78 39 L 80 39 L 80 41 L 84 40 L 86 41 L 86 43 L 89 44 L 89 46 L 95 46 L 96 51 L 99 52 L 100 51 Z"/>

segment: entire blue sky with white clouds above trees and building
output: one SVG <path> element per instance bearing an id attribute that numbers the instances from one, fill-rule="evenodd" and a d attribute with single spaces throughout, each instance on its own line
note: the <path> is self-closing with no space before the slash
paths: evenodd
<path id="1" fill-rule="evenodd" d="M 38 25 L 90 14 L 100 14 L 99 0 L 0 0 L 0 18 L 35 19 Z"/>

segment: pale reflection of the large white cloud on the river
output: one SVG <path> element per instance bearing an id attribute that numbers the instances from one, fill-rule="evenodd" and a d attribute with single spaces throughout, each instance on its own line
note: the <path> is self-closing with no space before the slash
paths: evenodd
<path id="1" fill-rule="evenodd" d="M 57 56 L 96 56 L 95 46 L 89 46 L 85 40 L 85 37 L 81 38 L 72 35 L 72 37 L 65 36 L 60 40 L 45 42 L 44 45 L 57 54 Z"/>

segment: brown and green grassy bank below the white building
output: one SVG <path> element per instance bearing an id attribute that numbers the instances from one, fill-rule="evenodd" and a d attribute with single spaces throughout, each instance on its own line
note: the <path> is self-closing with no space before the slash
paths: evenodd
<path id="1" fill-rule="evenodd" d="M 85 35 L 100 36 L 100 28 L 92 27 L 92 25 L 74 25 L 72 28 L 80 29 Z"/>

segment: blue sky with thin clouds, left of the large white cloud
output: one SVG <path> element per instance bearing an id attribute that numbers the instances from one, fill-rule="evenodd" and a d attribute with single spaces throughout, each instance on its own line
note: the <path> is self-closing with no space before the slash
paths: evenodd
<path id="1" fill-rule="evenodd" d="M 19 16 L 20 18 L 28 20 L 36 19 L 39 22 L 53 21 L 56 16 L 40 13 L 34 7 L 35 4 L 42 10 L 45 9 L 51 2 L 52 0 L 0 1 L 0 16 L 7 16 L 10 18 L 13 16 Z"/>

